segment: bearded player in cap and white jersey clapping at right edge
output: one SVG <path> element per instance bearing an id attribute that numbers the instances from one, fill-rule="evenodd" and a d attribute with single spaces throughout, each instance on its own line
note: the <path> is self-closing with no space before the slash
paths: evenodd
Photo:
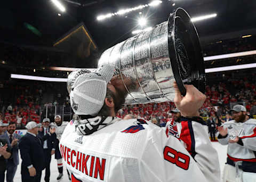
<path id="1" fill-rule="evenodd" d="M 256 120 L 246 119 L 246 108 L 235 105 L 233 119 L 218 127 L 218 140 L 228 145 L 223 182 L 256 181 Z"/>

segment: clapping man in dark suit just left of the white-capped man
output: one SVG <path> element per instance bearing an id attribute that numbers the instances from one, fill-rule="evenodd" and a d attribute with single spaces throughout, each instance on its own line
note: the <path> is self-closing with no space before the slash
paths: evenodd
<path id="1" fill-rule="evenodd" d="M 9 126 L 7 127 L 7 132 L 3 135 L 7 139 L 7 141 L 10 142 L 10 145 L 12 147 L 12 158 L 8 159 L 7 161 L 7 182 L 13 182 L 13 178 L 19 164 L 19 140 L 21 136 L 14 133 L 15 129 L 15 122 L 10 122 Z"/>

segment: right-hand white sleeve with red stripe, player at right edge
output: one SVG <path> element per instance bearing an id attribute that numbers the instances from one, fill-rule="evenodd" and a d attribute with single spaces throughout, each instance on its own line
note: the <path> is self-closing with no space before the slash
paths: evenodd
<path id="1" fill-rule="evenodd" d="M 240 137 L 239 140 L 242 140 L 243 147 L 256 151 L 256 120 L 254 120 L 254 124 L 250 122 L 250 124 L 245 126 L 248 134 Z"/>

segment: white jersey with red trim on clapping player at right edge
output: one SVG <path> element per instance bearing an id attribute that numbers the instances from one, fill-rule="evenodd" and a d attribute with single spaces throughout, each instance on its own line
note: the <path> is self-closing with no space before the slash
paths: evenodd
<path id="1" fill-rule="evenodd" d="M 219 143 L 228 145 L 228 158 L 234 162 L 254 162 L 256 168 L 256 120 L 249 119 L 244 123 L 231 120 L 223 123 L 223 128 L 228 128 L 228 135 L 221 137 L 218 133 Z M 230 135 L 239 137 L 237 143 L 229 143 Z"/>

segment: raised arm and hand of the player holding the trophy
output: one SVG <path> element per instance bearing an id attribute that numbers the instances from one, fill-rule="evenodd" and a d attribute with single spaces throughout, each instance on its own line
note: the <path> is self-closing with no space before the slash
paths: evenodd
<path id="1" fill-rule="evenodd" d="M 205 121 L 199 117 L 198 109 L 205 101 L 205 95 L 192 85 L 186 85 L 187 94 L 181 96 L 174 83 L 174 103 L 182 117 L 175 126 L 166 126 L 166 134 L 177 137 L 208 181 L 220 181 L 218 153 L 212 147 Z"/>

